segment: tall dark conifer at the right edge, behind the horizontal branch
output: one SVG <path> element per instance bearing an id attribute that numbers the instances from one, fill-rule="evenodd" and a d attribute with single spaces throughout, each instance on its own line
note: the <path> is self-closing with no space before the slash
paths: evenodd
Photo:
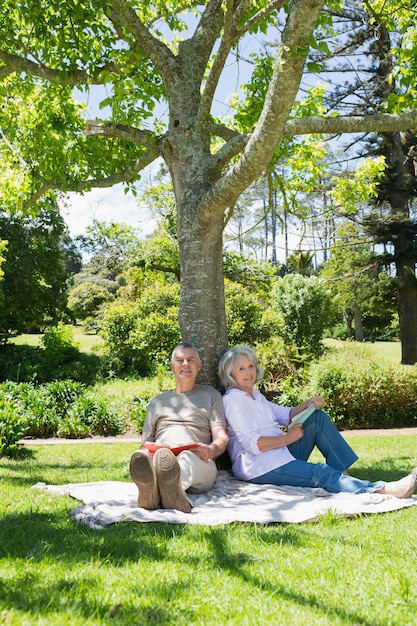
<path id="1" fill-rule="evenodd" d="M 395 5 L 395 6 L 394 6 Z M 365 11 L 364 11 L 365 7 Z M 415 98 L 417 52 L 415 3 L 349 0 L 334 13 L 332 50 L 343 54 L 329 60 L 323 55 L 331 81 L 328 110 L 374 114 L 404 110 Z M 359 54 L 358 54 L 359 52 Z M 345 77 L 335 81 L 333 76 Z M 413 105 L 412 105 L 413 106 Z M 405 131 L 405 129 L 403 129 Z M 394 268 L 402 346 L 401 362 L 417 362 L 416 140 L 414 132 L 377 132 L 356 136 L 355 158 L 382 155 L 386 171 L 368 215 L 367 232 L 384 245 L 384 263 Z M 387 252 L 390 252 L 388 257 Z"/>

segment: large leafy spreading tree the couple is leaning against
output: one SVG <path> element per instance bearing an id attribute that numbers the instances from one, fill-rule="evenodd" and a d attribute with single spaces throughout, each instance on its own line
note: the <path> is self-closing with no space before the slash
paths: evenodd
<path id="1" fill-rule="evenodd" d="M 309 48 L 326 48 L 317 37 L 328 36 L 327 7 L 340 2 L 323 7 L 321 0 L 108 0 L 105 9 L 99 0 L 3 0 L 1 201 L 27 206 L 51 190 L 134 187 L 139 172 L 161 157 L 178 216 L 181 334 L 201 346 L 207 380 L 227 345 L 225 214 L 282 138 L 416 125 L 414 112 L 289 119 Z M 278 37 L 271 80 L 249 132 L 240 132 L 233 120 L 218 119 L 216 91 L 241 41 L 268 27 Z M 107 89 L 106 121 L 86 121 L 73 98 L 75 87 L 80 93 L 93 85 Z M 155 114 L 162 103 L 166 126 Z"/>

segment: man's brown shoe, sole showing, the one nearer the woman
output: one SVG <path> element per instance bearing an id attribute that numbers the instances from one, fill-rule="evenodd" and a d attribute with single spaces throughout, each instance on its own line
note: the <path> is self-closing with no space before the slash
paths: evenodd
<path id="1" fill-rule="evenodd" d="M 161 448 L 155 452 L 153 464 L 163 508 L 191 513 L 192 506 L 182 488 L 181 469 L 175 455 L 168 448 Z"/>

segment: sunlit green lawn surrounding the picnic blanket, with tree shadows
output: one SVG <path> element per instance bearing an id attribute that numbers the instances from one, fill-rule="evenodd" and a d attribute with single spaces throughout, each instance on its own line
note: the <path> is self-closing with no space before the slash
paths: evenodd
<path id="1" fill-rule="evenodd" d="M 361 478 L 396 479 L 417 435 L 355 436 Z M 312 524 L 77 524 L 52 484 L 129 480 L 134 444 L 36 446 L 0 459 L 0 622 L 409 626 L 417 507 Z"/>

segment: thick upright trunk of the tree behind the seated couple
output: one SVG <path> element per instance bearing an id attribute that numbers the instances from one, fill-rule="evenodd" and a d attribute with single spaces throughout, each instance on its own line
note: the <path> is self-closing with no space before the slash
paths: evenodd
<path id="1" fill-rule="evenodd" d="M 214 182 L 209 134 L 190 117 L 171 116 L 164 158 L 177 203 L 180 253 L 180 315 L 183 341 L 196 345 L 203 359 L 199 381 L 218 386 L 217 364 L 227 348 L 223 277 L 224 211 L 202 214 L 201 201 Z"/>

